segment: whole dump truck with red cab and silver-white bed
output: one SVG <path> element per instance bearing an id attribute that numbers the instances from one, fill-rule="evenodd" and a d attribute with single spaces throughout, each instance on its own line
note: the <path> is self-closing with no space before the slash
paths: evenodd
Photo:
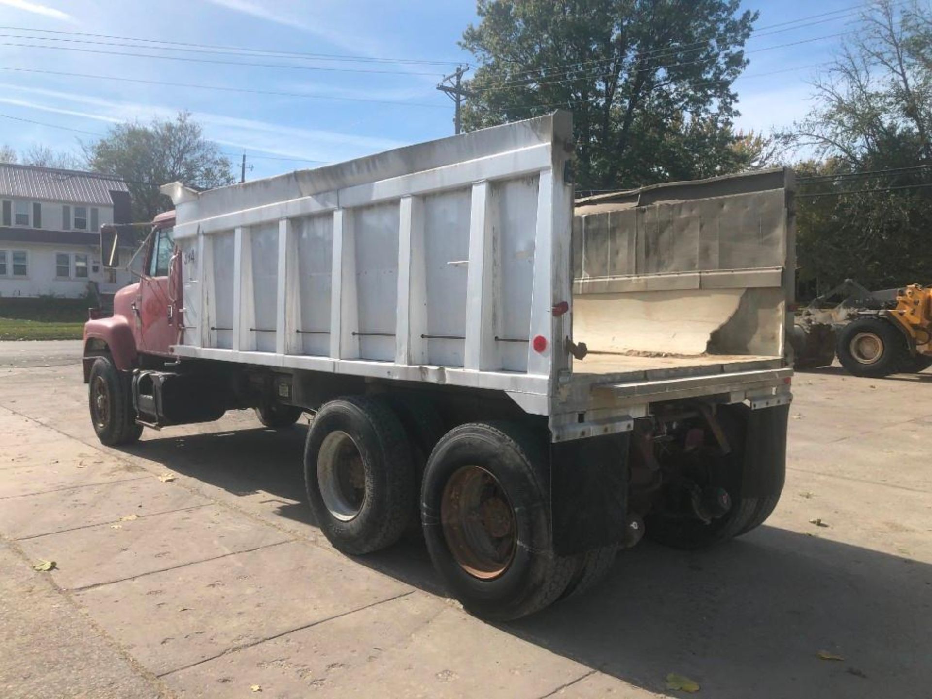
<path id="1" fill-rule="evenodd" d="M 95 432 L 308 414 L 333 546 L 370 554 L 417 524 L 490 620 L 582 594 L 642 535 L 758 527 L 785 475 L 792 172 L 574 202 L 573 157 L 556 112 L 166 185 L 138 283 L 85 328 Z"/>

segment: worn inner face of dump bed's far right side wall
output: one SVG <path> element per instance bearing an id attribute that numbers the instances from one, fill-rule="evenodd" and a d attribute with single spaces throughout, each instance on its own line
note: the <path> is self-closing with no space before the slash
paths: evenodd
<path id="1" fill-rule="evenodd" d="M 782 169 L 581 200 L 574 339 L 594 357 L 782 357 L 791 204 Z"/>

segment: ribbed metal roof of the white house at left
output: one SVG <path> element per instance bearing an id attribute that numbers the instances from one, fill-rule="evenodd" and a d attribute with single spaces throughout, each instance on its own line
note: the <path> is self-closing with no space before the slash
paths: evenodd
<path id="1" fill-rule="evenodd" d="M 0 163 L 0 197 L 51 199 L 113 206 L 111 191 L 130 191 L 118 177 L 97 172 Z"/>

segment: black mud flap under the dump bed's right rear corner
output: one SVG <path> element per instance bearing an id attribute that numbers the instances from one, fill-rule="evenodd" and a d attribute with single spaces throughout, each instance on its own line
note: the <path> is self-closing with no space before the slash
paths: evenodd
<path id="1" fill-rule="evenodd" d="M 789 405 L 748 410 L 741 495 L 762 498 L 783 490 L 787 477 Z"/>

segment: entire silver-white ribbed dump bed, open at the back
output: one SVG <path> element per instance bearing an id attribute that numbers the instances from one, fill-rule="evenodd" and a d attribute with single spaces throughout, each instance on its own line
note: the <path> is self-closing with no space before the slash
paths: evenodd
<path id="1" fill-rule="evenodd" d="M 506 391 L 561 434 L 643 414 L 619 386 L 780 380 L 782 173 L 590 201 L 574 236 L 571 135 L 558 112 L 206 192 L 167 185 L 174 351 Z M 591 353 L 574 361 L 570 339 Z"/>

